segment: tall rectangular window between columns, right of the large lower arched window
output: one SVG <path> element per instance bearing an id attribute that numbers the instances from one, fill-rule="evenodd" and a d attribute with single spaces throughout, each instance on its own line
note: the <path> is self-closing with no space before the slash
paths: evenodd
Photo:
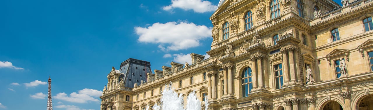
<path id="1" fill-rule="evenodd" d="M 276 69 L 275 66 L 278 66 L 279 68 Z M 276 76 L 276 72 L 278 72 L 278 71 L 279 71 L 278 76 Z M 283 85 L 283 82 L 284 82 L 284 80 L 283 80 L 284 76 L 283 76 L 283 65 L 282 65 L 282 63 L 273 64 L 273 76 L 274 76 L 273 80 L 275 82 L 275 85 L 274 85 L 275 87 L 274 88 L 275 89 L 282 89 L 282 85 Z M 276 78 L 278 78 L 279 80 L 276 81 Z M 281 81 L 282 81 L 282 83 L 281 83 Z"/>

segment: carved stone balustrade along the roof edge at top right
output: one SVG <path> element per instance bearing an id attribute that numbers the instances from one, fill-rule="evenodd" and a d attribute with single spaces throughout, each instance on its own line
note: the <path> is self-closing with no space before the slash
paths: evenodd
<path id="1" fill-rule="evenodd" d="M 310 25 L 313 26 L 313 25 L 319 24 L 321 22 L 333 19 L 336 16 L 340 16 L 340 15 L 345 14 L 345 13 L 353 12 L 353 11 L 359 9 L 360 7 L 369 6 L 369 5 L 373 4 L 372 1 L 373 0 L 357 0 L 357 1 L 354 1 L 354 2 L 350 3 L 350 5 L 348 5 L 348 6 L 339 7 L 337 9 L 328 11 L 328 12 L 325 13 L 325 15 L 323 15 L 321 17 L 314 18 L 313 20 L 311 20 Z"/>

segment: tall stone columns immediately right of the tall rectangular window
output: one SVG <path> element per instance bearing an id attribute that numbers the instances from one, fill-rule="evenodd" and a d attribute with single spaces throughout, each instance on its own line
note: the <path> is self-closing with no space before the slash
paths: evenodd
<path id="1" fill-rule="evenodd" d="M 290 81 L 297 81 L 300 80 L 300 76 L 296 76 L 298 74 L 298 48 L 296 47 L 286 47 L 280 50 L 282 53 L 282 70 L 283 70 L 283 80 L 284 83 L 289 82 L 289 75 Z M 295 59 L 294 59 L 295 57 Z M 295 61 L 294 61 L 295 60 Z M 289 61 L 289 64 L 288 64 Z M 288 68 L 289 66 L 289 68 Z"/>

